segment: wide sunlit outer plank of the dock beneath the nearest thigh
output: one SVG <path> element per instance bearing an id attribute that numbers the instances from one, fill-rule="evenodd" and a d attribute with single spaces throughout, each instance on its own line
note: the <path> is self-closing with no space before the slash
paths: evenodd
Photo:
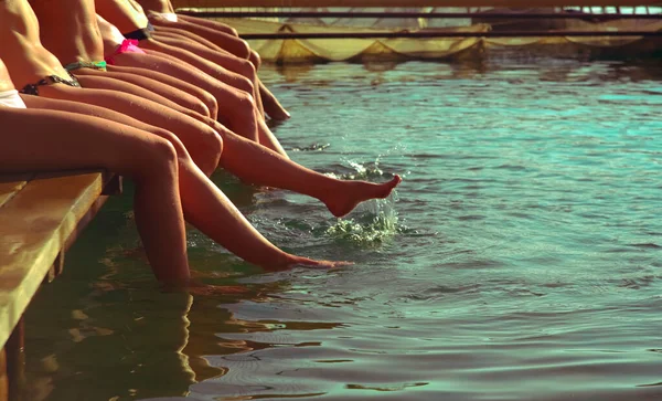
<path id="1" fill-rule="evenodd" d="M 0 208 L 0 345 L 103 186 L 100 172 L 38 176 Z"/>

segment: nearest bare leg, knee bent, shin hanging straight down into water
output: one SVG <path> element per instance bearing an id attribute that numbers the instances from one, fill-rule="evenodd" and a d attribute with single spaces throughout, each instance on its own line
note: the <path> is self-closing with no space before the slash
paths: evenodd
<path id="1" fill-rule="evenodd" d="M 119 124 L 52 110 L 0 107 L 0 120 L 3 133 L 18 134 L 2 139 L 6 171 L 102 167 L 131 177 L 136 222 L 154 275 L 163 282 L 189 278 L 172 145 Z"/>

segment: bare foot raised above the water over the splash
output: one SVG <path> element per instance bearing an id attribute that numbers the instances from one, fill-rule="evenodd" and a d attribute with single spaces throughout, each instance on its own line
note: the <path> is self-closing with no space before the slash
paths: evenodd
<path id="1" fill-rule="evenodd" d="M 322 202 L 337 218 L 348 214 L 363 201 L 386 198 L 403 179 L 395 176 L 391 181 L 374 183 L 367 181 L 344 181 L 346 189 L 330 193 Z"/>

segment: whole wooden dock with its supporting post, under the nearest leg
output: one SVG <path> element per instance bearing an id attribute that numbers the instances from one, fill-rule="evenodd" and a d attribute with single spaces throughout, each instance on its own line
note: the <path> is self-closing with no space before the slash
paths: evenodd
<path id="1" fill-rule="evenodd" d="M 0 175 L 0 401 L 23 381 L 23 314 L 121 179 L 104 171 Z"/>

